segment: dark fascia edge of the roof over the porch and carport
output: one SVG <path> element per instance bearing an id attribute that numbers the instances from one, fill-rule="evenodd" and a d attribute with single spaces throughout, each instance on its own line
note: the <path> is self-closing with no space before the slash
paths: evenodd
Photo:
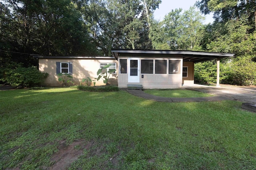
<path id="1" fill-rule="evenodd" d="M 217 53 L 203 51 L 171 51 L 171 50 L 131 50 L 131 49 L 112 49 L 112 55 L 117 59 L 118 53 L 137 53 L 137 54 L 180 54 L 184 57 L 210 57 L 211 59 L 220 59 L 224 57 L 234 57 L 234 53 Z"/>

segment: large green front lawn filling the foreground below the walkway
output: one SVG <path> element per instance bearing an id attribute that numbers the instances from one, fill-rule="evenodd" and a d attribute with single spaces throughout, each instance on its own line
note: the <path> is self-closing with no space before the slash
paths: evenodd
<path id="1" fill-rule="evenodd" d="M 256 167 L 256 114 L 236 101 L 52 88 L 0 91 L 0 108 L 1 169 Z"/>

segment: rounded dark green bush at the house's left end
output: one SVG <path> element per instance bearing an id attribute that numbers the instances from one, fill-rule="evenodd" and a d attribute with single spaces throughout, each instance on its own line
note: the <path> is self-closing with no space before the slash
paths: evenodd
<path id="1" fill-rule="evenodd" d="M 18 67 L 6 71 L 6 82 L 12 86 L 32 87 L 40 85 L 48 73 L 40 72 L 36 67 Z"/>

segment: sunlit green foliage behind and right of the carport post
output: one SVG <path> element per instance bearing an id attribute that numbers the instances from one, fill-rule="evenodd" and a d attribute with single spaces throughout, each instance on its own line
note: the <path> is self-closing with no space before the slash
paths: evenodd
<path id="1" fill-rule="evenodd" d="M 222 60 L 220 83 L 241 86 L 255 84 L 256 32 L 252 32 L 253 26 L 248 15 L 244 14 L 236 20 L 214 22 L 204 28 L 200 40 L 202 49 L 236 54 L 234 58 Z M 195 81 L 215 83 L 215 70 L 215 64 L 195 64 Z"/>

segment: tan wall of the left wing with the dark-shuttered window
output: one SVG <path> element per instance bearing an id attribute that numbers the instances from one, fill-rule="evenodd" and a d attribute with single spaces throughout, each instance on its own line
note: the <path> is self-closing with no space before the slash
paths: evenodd
<path id="1" fill-rule="evenodd" d="M 56 62 L 72 62 L 72 77 L 74 85 L 79 85 L 83 78 L 90 77 L 92 80 L 97 77 L 97 71 L 100 68 L 100 63 L 116 63 L 116 74 L 109 77 L 110 84 L 117 85 L 118 63 L 111 59 L 39 59 L 39 70 L 47 72 L 49 76 L 46 78 L 44 85 L 46 86 L 61 86 L 56 74 Z M 85 84 L 85 83 L 83 83 Z M 71 84 L 70 84 L 71 85 Z M 103 80 L 96 81 L 96 86 L 105 85 Z M 93 86 L 93 83 L 90 84 Z"/>

